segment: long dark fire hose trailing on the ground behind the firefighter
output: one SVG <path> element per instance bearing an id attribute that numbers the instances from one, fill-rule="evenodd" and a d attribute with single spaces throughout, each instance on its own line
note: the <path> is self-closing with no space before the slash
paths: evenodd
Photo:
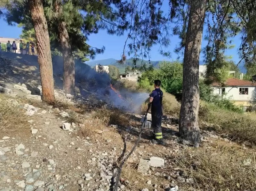
<path id="1" fill-rule="evenodd" d="M 133 153 L 133 151 L 135 151 L 136 147 L 138 146 L 138 144 L 139 144 L 139 142 L 140 142 L 140 137 L 141 137 L 143 128 L 145 127 L 145 121 L 146 121 L 146 119 L 147 119 L 147 115 L 148 115 L 148 111 L 149 111 L 150 106 L 151 106 L 151 103 L 148 104 L 148 109 L 147 109 L 147 112 L 146 112 L 146 114 L 145 114 L 145 117 L 144 117 L 142 126 L 141 126 L 141 128 L 140 128 L 140 135 L 138 136 L 138 139 L 137 139 L 136 143 L 135 143 L 134 146 L 132 147 L 131 152 L 123 159 L 121 165 L 119 166 L 119 170 L 118 170 L 117 177 L 116 177 L 116 186 L 115 186 L 115 190 L 114 190 L 114 191 L 117 191 L 117 189 L 118 189 L 119 179 L 120 179 L 120 175 L 121 175 L 122 168 L 123 168 L 123 166 L 124 166 L 125 161 L 131 156 L 131 154 Z"/>

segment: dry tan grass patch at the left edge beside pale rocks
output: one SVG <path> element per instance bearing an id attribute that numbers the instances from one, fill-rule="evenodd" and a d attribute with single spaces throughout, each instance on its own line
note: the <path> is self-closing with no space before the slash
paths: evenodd
<path id="1" fill-rule="evenodd" d="M 23 109 L 15 105 L 15 99 L 0 93 L 0 108 L 0 130 L 12 132 L 25 127 L 28 117 Z"/>

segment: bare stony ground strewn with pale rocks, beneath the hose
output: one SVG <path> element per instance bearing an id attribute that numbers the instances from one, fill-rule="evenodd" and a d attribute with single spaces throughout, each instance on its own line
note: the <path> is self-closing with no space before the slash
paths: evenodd
<path id="1" fill-rule="evenodd" d="M 0 191 L 113 190 L 118 165 L 139 135 L 141 116 L 104 109 L 99 100 L 76 99 L 58 89 L 59 105 L 44 105 L 33 72 L 26 81 L 17 72 L 24 67 L 13 69 L 15 64 L 3 58 L 0 66 L 1 101 L 23 112 L 27 121 L 22 128 L 0 125 Z M 104 112 L 117 119 L 106 117 L 106 122 Z M 119 190 L 196 190 L 195 180 L 174 165 L 175 156 L 195 149 L 180 143 L 177 119 L 163 119 L 165 146 L 150 144 L 151 132 L 148 125 L 125 163 Z M 214 132 L 202 135 L 206 147 L 217 139 L 232 144 Z"/>

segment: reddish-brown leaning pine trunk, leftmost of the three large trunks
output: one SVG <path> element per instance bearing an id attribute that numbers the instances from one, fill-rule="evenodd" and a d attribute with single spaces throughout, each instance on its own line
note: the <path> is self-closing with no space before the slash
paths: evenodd
<path id="1" fill-rule="evenodd" d="M 54 83 L 50 38 L 41 0 L 29 0 L 31 17 L 36 33 L 36 50 L 41 75 L 43 101 L 54 103 Z"/>

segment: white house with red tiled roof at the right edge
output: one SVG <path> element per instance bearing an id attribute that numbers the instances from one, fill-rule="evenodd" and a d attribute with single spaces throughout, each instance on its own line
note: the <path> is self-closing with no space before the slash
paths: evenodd
<path id="1" fill-rule="evenodd" d="M 213 92 L 224 94 L 227 99 L 234 101 L 236 105 L 242 105 L 244 111 L 255 110 L 256 106 L 256 83 L 229 78 L 224 86 L 218 83 L 212 84 Z"/>

